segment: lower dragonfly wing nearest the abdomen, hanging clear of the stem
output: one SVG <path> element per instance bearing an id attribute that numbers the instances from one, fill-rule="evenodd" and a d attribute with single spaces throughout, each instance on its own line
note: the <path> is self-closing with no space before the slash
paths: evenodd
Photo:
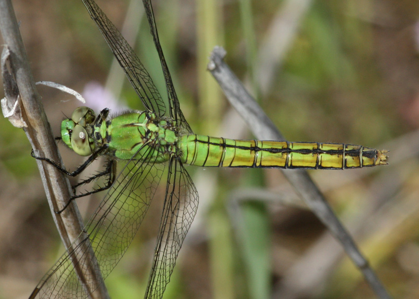
<path id="1" fill-rule="evenodd" d="M 198 208 L 198 192 L 186 169 L 175 158 L 169 163 L 168 183 L 156 249 L 145 299 L 161 299 L 176 257 Z"/>

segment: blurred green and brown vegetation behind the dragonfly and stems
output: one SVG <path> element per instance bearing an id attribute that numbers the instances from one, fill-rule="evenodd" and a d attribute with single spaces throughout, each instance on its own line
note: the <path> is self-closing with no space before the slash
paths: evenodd
<path id="1" fill-rule="evenodd" d="M 115 84 L 124 75 L 119 69 L 109 73 L 112 55 L 82 2 L 13 3 L 35 81 L 64 84 L 86 98 L 93 90 L 93 101 L 103 97 L 95 109 L 108 106 L 101 94 L 106 79 L 112 76 L 108 81 Z M 132 44 L 164 96 L 140 1 L 98 4 L 118 28 L 126 24 L 125 36 L 137 37 Z M 389 292 L 418 298 L 419 2 L 156 0 L 153 5 L 181 108 L 196 133 L 252 138 L 206 71 L 212 47 L 222 45 L 226 62 L 288 140 L 391 150 L 389 166 L 311 175 Z M 133 23 L 124 22 L 127 11 Z M 126 81 L 121 92 L 111 88 L 121 102 L 141 109 Z M 58 136 L 64 115 L 79 103 L 51 88 L 38 90 Z M 64 248 L 25 134 L 4 118 L 0 128 L 0 298 L 27 298 Z M 83 161 L 61 145 L 60 150 L 67 168 Z M 374 298 L 279 170 L 187 169 L 200 207 L 165 299 Z M 85 219 L 100 198 L 78 199 Z M 161 206 L 155 199 L 107 278 L 112 298 L 142 298 Z"/>

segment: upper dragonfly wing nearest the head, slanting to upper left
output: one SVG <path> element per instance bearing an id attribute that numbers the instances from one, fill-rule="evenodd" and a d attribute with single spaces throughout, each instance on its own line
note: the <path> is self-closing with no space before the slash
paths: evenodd
<path id="1" fill-rule="evenodd" d="M 136 90 L 144 107 L 158 116 L 163 116 L 166 112 L 165 104 L 133 48 L 131 48 L 112 22 L 109 21 L 95 1 L 83 0 L 83 3 L 105 37 L 107 44 L 123 68 L 131 85 Z"/>

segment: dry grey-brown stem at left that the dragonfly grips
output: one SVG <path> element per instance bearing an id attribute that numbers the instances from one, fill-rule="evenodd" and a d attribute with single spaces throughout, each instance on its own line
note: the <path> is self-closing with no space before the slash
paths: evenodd
<path id="1" fill-rule="evenodd" d="M 50 125 L 47 122 L 40 97 L 35 89 L 34 78 L 29 68 L 25 47 L 10 0 L 0 0 L 0 31 L 5 43 L 4 47 L 9 54 L 6 58 L 9 63 L 8 69 L 3 69 L 2 71 L 3 73 L 10 71 L 9 75 L 6 76 L 7 81 L 10 81 L 10 78 L 13 80 L 12 83 L 9 82 L 9 85 L 5 84 L 5 89 L 9 89 L 10 85 L 15 84 L 15 89 L 18 90 L 19 98 L 14 100 L 20 100 L 21 119 L 27 125 L 24 131 L 35 150 L 35 154 L 61 162 Z M 4 78 L 4 81 L 6 81 L 6 78 Z M 5 92 L 5 94 L 7 95 L 8 93 Z M 9 106 L 13 106 L 13 104 L 11 103 Z M 59 215 L 54 213 L 54 211 L 60 210 L 70 199 L 70 183 L 64 174 L 54 166 L 39 160 L 37 160 L 37 165 L 57 229 L 66 248 L 69 248 L 72 241 L 82 232 L 82 218 L 74 202 Z M 87 246 L 88 244 L 86 243 L 85 245 Z M 84 265 L 83 261 L 85 259 L 94 259 L 93 252 L 90 251 L 90 253 L 91 256 L 87 258 L 73 256 L 73 264 Z M 87 290 L 91 298 L 109 297 L 105 284 L 102 283 L 102 277 L 100 274 L 97 275 L 93 268 L 83 268 L 82 270 L 80 266 L 76 266 L 76 271 L 82 283 L 87 279 L 86 277 L 89 277 L 89 279 L 96 278 L 98 291 L 90 292 Z"/>

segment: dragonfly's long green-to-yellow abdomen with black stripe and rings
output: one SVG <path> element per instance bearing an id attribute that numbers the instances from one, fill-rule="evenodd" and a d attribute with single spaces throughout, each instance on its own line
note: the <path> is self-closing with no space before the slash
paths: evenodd
<path id="1" fill-rule="evenodd" d="M 182 163 L 195 166 L 346 169 L 386 164 L 385 151 L 361 145 L 234 140 L 204 135 L 179 138 Z"/>

